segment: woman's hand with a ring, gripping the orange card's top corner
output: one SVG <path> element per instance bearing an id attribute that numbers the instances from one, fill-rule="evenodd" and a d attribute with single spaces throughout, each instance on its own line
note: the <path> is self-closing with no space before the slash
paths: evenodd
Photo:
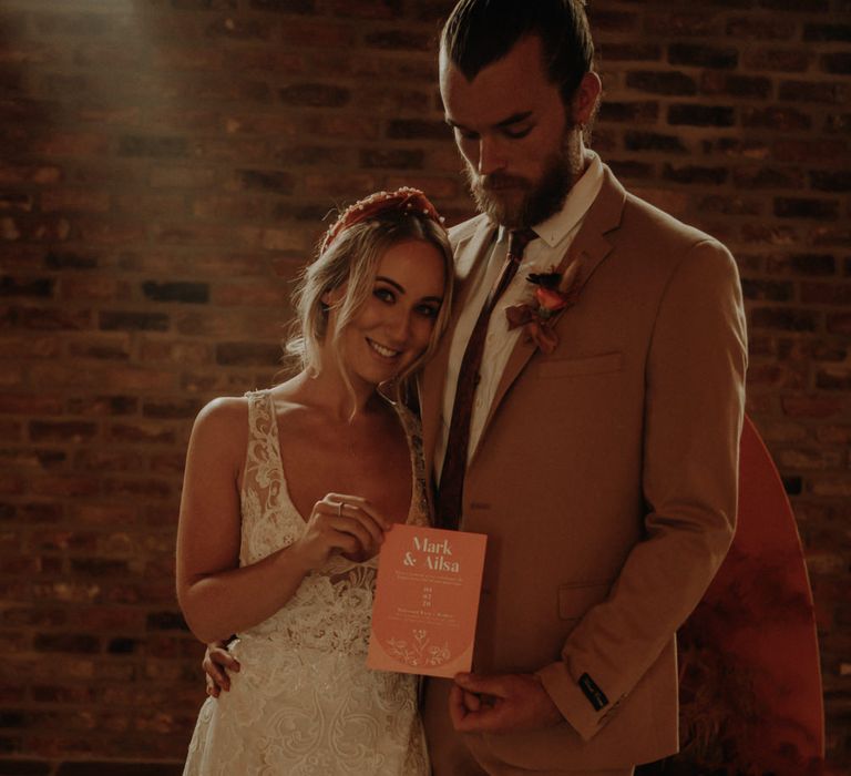
<path id="1" fill-rule="evenodd" d="M 359 496 L 328 493 L 314 504 L 307 529 L 291 545 L 308 571 L 321 569 L 339 553 L 362 563 L 378 553 L 392 523 Z"/>

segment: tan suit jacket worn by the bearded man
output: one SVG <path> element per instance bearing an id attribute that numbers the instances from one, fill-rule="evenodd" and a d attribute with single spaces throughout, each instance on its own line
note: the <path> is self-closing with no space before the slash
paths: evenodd
<path id="1" fill-rule="evenodd" d="M 451 237 L 454 320 L 494 227 L 478 216 Z M 474 671 L 536 672 L 565 718 L 464 743 L 531 770 L 676 751 L 675 632 L 736 519 L 746 330 L 729 252 L 605 167 L 565 265 L 574 259 L 582 290 L 555 325 L 555 351 L 521 336 L 510 356 L 461 521 L 488 534 Z M 429 471 L 450 339 L 421 384 Z M 432 695 L 442 706 L 443 693 Z M 427 732 L 439 754 L 434 714 Z"/>

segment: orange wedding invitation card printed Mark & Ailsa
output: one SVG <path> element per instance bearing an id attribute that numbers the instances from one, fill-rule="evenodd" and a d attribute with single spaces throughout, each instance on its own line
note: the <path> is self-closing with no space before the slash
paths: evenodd
<path id="1" fill-rule="evenodd" d="M 449 677 L 470 671 L 485 541 L 399 523 L 385 534 L 368 667 Z"/>

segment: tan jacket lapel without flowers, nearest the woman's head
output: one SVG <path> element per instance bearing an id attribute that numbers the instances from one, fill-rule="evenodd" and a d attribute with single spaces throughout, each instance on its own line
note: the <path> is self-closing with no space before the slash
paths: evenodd
<path id="1" fill-rule="evenodd" d="M 447 377 L 449 353 L 452 337 L 458 325 L 458 318 L 466 305 L 475 280 L 484 272 L 489 249 L 496 234 L 496 227 L 486 218 L 481 221 L 468 242 L 460 242 L 454 247 L 455 254 L 455 287 L 452 299 L 452 313 L 447 331 L 441 339 L 440 347 L 434 354 L 422 375 L 420 400 L 422 412 L 422 442 L 428 477 L 431 478 L 431 461 L 434 456 L 434 447 L 440 430 L 441 405 L 443 402 L 443 386 Z"/>

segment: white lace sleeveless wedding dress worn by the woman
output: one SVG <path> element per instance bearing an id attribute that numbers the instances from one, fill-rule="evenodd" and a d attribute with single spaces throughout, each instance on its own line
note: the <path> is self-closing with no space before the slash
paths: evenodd
<path id="1" fill-rule="evenodd" d="M 247 394 L 249 438 L 242 490 L 240 565 L 290 544 L 305 521 L 287 492 L 268 391 Z M 408 521 L 426 524 L 419 435 L 411 442 Z M 184 776 L 426 776 L 417 677 L 366 667 L 377 560 L 335 558 L 305 578 L 265 622 L 238 634 L 242 670 L 207 698 Z"/>

